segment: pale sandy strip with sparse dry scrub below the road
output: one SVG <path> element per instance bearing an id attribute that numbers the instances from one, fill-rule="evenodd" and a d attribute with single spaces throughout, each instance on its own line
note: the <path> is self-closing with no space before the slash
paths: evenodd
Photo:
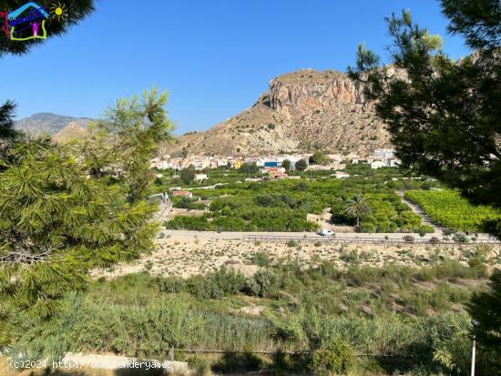
<path id="1" fill-rule="evenodd" d="M 148 271 L 158 276 L 179 276 L 187 278 L 196 274 L 207 274 L 227 266 L 245 275 L 257 270 L 251 260 L 256 254 L 264 253 L 273 262 L 281 259 L 298 260 L 308 267 L 321 260 L 332 261 L 344 269 L 353 262 L 361 266 L 382 267 L 389 263 L 420 266 L 440 259 L 458 259 L 465 263 L 474 253 L 482 249 L 486 263 L 493 267 L 500 262 L 500 246 L 475 245 L 439 247 L 422 245 L 375 245 L 375 244 L 283 244 L 260 243 L 240 240 L 158 240 L 157 250 L 141 259 L 127 264 L 118 264 L 109 269 L 96 269 L 94 278 L 116 278 L 129 273 Z"/>

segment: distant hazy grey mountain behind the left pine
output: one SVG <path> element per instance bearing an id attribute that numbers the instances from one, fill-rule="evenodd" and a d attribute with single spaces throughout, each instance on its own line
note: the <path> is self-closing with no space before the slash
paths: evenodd
<path id="1" fill-rule="evenodd" d="M 15 128 L 29 134 L 46 133 L 54 136 L 70 123 L 72 124 L 70 130 L 76 127 L 86 129 L 89 121 L 92 121 L 92 119 L 88 117 L 64 117 L 48 112 L 41 112 L 16 121 Z M 66 133 L 69 133 L 69 131 Z"/>

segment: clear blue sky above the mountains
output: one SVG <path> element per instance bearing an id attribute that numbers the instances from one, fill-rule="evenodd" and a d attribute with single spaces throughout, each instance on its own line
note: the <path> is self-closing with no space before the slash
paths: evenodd
<path id="1" fill-rule="evenodd" d="M 149 86 L 170 93 L 176 133 L 209 128 L 250 107 L 271 78 L 309 68 L 344 71 L 364 42 L 386 57 L 383 17 L 410 9 L 455 57 L 435 0 L 99 0 L 66 36 L 0 59 L 3 96 L 18 117 L 99 117 Z"/>

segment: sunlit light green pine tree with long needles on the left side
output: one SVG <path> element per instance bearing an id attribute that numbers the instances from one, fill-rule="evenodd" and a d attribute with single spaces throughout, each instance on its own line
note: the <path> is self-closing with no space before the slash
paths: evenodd
<path id="1" fill-rule="evenodd" d="M 19 143 L 0 173 L 0 301 L 3 309 L 53 316 L 88 270 L 137 258 L 158 230 L 148 173 L 172 128 L 156 90 L 118 101 L 89 137 L 60 146 Z M 146 173 L 145 173 L 146 171 Z M 2 310 L 2 309 L 0 309 Z"/>

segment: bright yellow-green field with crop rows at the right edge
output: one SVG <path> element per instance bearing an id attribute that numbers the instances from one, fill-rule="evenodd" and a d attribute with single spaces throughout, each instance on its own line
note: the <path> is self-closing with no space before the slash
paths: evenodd
<path id="1" fill-rule="evenodd" d="M 461 231 L 481 232 L 482 222 L 501 218 L 501 212 L 474 206 L 453 190 L 407 190 L 405 197 L 423 208 L 439 225 Z"/>

